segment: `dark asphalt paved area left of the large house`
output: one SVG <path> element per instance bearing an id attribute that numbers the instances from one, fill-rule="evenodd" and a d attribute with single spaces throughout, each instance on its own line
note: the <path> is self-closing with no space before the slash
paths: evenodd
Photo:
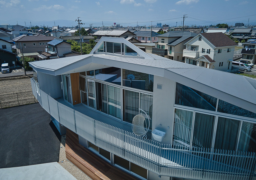
<path id="1" fill-rule="evenodd" d="M 0 109 L 0 168 L 58 162 L 60 136 L 52 127 L 39 103 Z"/>

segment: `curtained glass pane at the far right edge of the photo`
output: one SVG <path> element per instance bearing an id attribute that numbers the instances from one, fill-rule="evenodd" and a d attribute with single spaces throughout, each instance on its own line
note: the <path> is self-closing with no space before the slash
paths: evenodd
<path id="1" fill-rule="evenodd" d="M 256 124 L 243 122 L 238 150 L 256 152 Z"/>

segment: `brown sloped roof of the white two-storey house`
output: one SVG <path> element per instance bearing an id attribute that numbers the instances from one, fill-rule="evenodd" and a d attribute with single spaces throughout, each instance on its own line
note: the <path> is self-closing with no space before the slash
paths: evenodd
<path id="1" fill-rule="evenodd" d="M 238 45 L 222 32 L 201 33 L 201 35 L 204 36 L 204 38 L 207 39 L 210 43 L 212 43 L 215 47 Z"/>

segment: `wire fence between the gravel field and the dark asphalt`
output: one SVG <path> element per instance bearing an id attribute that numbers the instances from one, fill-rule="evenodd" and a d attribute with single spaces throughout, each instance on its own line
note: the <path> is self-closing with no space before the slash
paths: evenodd
<path id="1" fill-rule="evenodd" d="M 0 108 L 37 103 L 32 91 L 0 95 Z"/>

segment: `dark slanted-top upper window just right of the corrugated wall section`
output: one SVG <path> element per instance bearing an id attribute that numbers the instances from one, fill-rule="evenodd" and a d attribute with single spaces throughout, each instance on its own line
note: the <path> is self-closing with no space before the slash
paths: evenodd
<path id="1" fill-rule="evenodd" d="M 215 111 L 217 98 L 176 83 L 175 104 Z"/>

